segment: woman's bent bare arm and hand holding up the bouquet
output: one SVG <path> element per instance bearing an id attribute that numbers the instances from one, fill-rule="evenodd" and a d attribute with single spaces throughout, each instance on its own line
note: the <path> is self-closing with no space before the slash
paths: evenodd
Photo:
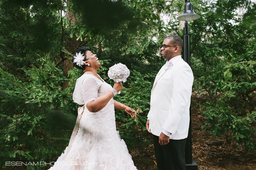
<path id="1" fill-rule="evenodd" d="M 123 89 L 122 82 L 115 83 L 113 88 L 116 91 L 120 91 L 121 89 Z M 108 104 L 109 100 L 113 96 L 114 96 L 113 93 L 111 91 L 108 91 L 104 95 L 101 95 L 99 97 L 96 97 L 94 100 L 89 101 L 86 104 L 86 107 L 89 112 L 99 112 L 101 109 L 103 109 Z"/>

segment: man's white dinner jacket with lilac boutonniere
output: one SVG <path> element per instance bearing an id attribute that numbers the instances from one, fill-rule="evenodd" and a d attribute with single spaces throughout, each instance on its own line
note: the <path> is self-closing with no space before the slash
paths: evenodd
<path id="1" fill-rule="evenodd" d="M 163 132 L 170 139 L 179 140 L 188 137 L 194 76 L 180 55 L 171 61 L 172 66 L 167 67 L 166 63 L 157 73 L 151 90 L 149 130 L 154 135 Z"/>

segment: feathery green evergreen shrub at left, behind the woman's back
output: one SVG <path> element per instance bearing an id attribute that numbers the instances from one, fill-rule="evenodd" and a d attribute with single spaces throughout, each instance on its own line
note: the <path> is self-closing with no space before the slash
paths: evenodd
<path id="1" fill-rule="evenodd" d="M 44 68 L 25 70 L 30 77 L 17 79 L 12 74 L 1 72 L 1 145 L 0 157 L 4 161 L 26 158 L 40 162 L 60 154 L 66 141 L 51 143 L 52 130 L 73 128 L 76 105 L 71 100 L 70 90 L 60 90 L 59 83 L 67 79 L 53 62 L 42 59 Z M 52 67 L 53 66 L 53 67 Z M 73 113 L 73 114 L 72 114 Z M 60 119 L 61 118 L 61 119 Z M 73 121 L 72 121 L 73 120 Z"/>

